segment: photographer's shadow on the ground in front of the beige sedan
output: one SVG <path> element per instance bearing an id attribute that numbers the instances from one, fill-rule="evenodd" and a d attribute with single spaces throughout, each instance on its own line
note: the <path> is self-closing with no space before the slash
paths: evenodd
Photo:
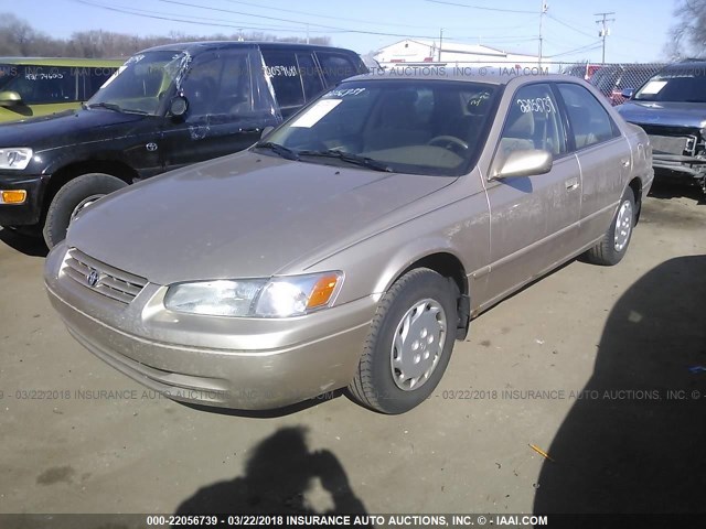
<path id="1" fill-rule="evenodd" d="M 333 508 L 315 510 L 307 492 L 319 482 Z M 199 489 L 176 514 L 365 515 L 345 471 L 328 450 L 310 451 L 303 428 L 282 428 L 261 441 L 244 476 Z"/>

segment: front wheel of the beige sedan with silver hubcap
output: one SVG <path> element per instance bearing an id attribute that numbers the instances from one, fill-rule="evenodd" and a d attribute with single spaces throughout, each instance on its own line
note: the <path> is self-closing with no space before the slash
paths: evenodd
<path id="1" fill-rule="evenodd" d="M 457 298 L 456 283 L 427 268 L 399 278 L 379 301 L 350 396 L 389 414 L 424 402 L 451 358 Z"/>

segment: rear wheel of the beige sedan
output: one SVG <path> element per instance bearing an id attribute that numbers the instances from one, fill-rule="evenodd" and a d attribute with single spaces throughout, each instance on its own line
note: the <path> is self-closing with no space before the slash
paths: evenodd
<path id="1" fill-rule="evenodd" d="M 628 187 L 620 199 L 620 205 L 608 231 L 593 248 L 586 252 L 586 260 L 601 266 L 618 264 L 630 246 L 637 217 L 635 195 Z"/>

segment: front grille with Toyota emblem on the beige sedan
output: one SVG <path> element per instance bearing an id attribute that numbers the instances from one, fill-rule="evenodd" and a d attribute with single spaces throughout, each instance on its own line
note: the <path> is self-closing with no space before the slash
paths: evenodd
<path id="1" fill-rule="evenodd" d="M 64 261 L 64 273 L 84 288 L 121 303 L 130 303 L 147 284 L 147 279 L 100 262 L 76 248 Z"/>

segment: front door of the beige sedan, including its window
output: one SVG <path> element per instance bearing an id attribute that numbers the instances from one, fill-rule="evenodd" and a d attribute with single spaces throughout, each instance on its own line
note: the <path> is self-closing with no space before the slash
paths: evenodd
<path id="1" fill-rule="evenodd" d="M 550 84 L 524 85 L 509 104 L 491 174 L 514 151 L 547 150 L 554 165 L 547 174 L 485 183 L 491 213 L 491 303 L 570 253 L 581 196 L 579 165 L 568 151 Z"/>

